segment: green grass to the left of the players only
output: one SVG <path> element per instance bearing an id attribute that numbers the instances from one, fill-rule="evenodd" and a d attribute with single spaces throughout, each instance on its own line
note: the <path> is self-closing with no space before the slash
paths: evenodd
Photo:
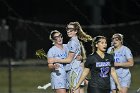
<path id="1" fill-rule="evenodd" d="M 0 68 L 0 93 L 8 93 L 8 68 Z M 48 90 L 38 90 L 38 85 L 50 82 L 50 71 L 47 67 L 15 67 L 12 68 L 13 93 L 48 93 Z"/>

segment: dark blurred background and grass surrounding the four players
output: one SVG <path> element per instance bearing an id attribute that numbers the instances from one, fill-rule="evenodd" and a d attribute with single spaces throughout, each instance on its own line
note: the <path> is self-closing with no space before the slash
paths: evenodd
<path id="1" fill-rule="evenodd" d="M 78 21 L 91 36 L 104 35 L 110 46 L 114 33 L 134 56 L 129 93 L 140 87 L 140 0 L 0 0 L 0 93 L 53 93 L 37 89 L 50 82 L 46 60 L 35 56 L 52 46 L 49 34 L 57 29 L 67 43 L 65 27 Z M 84 43 L 87 55 L 90 42 Z"/>

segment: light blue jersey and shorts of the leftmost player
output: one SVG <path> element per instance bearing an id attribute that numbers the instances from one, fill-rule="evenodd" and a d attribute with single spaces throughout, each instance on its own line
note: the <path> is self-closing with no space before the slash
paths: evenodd
<path id="1" fill-rule="evenodd" d="M 48 58 L 57 58 L 57 59 L 64 59 L 67 57 L 68 48 L 66 44 L 63 44 L 63 49 L 60 49 L 56 46 L 53 46 L 49 49 L 47 57 Z M 67 73 L 64 68 L 64 64 L 59 64 L 58 69 L 54 69 L 51 72 L 51 86 L 52 89 L 60 89 L 60 88 L 68 88 L 67 87 Z"/>

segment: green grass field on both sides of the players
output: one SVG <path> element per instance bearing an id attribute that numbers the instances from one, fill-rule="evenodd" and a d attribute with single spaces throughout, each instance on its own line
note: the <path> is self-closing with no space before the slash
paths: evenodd
<path id="1" fill-rule="evenodd" d="M 132 84 L 129 93 L 135 93 L 140 87 L 140 64 L 131 68 Z M 12 67 L 12 93 L 53 93 L 38 90 L 38 85 L 50 82 L 50 70 L 47 66 Z M 8 67 L 0 67 L 0 93 L 8 93 Z"/>

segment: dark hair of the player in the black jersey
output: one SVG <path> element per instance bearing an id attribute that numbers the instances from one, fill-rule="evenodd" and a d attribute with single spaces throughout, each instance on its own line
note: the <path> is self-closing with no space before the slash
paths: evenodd
<path id="1" fill-rule="evenodd" d="M 106 37 L 104 36 L 96 36 L 93 38 L 92 40 L 92 53 L 94 53 L 95 51 L 97 51 L 97 47 L 96 44 L 98 44 L 100 42 L 100 39 L 106 39 Z"/>

